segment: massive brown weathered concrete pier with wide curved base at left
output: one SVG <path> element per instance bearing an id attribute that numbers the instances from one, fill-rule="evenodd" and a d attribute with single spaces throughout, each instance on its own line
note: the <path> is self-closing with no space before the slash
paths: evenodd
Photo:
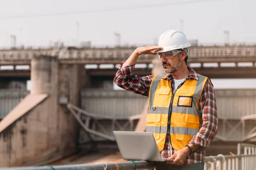
<path id="1" fill-rule="evenodd" d="M 47 164 L 76 152 L 77 121 L 59 99 L 79 104 L 79 67 L 47 56 L 33 57 L 31 65 L 31 95 L 49 95 L 0 132 L 0 167 Z"/>

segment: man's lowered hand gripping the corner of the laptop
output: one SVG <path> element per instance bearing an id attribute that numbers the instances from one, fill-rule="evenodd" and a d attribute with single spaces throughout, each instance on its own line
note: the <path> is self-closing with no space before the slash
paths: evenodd
<path id="1" fill-rule="evenodd" d="M 185 147 L 181 150 L 175 152 L 171 157 L 168 159 L 174 159 L 174 161 L 167 161 L 168 164 L 175 164 L 175 165 L 182 165 L 186 160 L 186 157 L 189 155 L 189 148 Z"/>

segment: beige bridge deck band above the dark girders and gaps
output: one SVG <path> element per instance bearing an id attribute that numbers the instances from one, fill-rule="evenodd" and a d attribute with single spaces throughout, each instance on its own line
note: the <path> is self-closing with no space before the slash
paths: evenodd
<path id="1" fill-rule="evenodd" d="M 28 65 L 32 56 L 58 56 L 65 64 L 115 64 L 127 59 L 135 48 L 0 50 L 0 65 Z M 144 55 L 138 63 L 151 63 Z M 189 48 L 189 62 L 256 62 L 256 45 Z"/>

